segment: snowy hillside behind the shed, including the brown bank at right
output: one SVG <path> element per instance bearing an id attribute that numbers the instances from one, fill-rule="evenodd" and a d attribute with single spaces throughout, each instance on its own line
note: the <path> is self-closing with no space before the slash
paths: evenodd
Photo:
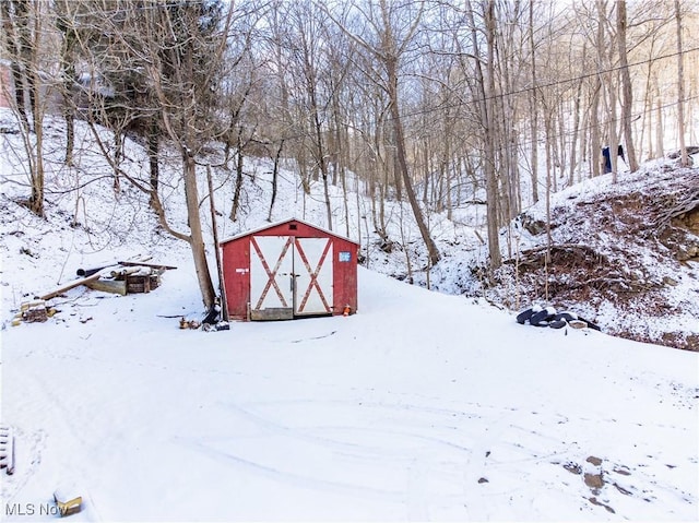
<path id="1" fill-rule="evenodd" d="M 22 296 L 72 278 L 78 268 L 98 266 L 142 252 L 168 251 L 177 243 L 159 228 L 144 194 L 123 180 L 115 191 L 112 170 L 86 126 L 76 126 L 78 167 L 62 164 L 64 128 L 60 118 L 47 118 L 47 219 L 36 219 L 17 204 L 27 194 L 25 156 L 16 122 L 7 110 L 0 111 L 0 130 L 4 139 L 0 151 L 0 227 L 4 239 L 0 247 L 5 260 L 19 252 L 19 270 L 32 270 L 39 263 L 37 250 L 60 243 L 60 259 L 52 273 L 36 274 L 32 288 L 17 286 L 5 272 L 5 290 L 11 289 L 4 293 L 5 321 L 8 309 L 16 308 Z M 100 132 L 109 143 L 110 133 Z M 265 158 L 247 158 L 240 207 L 236 221 L 228 219 L 235 173 L 221 166 L 224 157 L 215 144 L 209 155 L 202 163 L 220 166 L 213 174 L 221 238 L 291 216 L 328 227 L 321 185 L 311 182 L 306 194 L 289 162 L 282 166 L 279 197 L 270 211 L 272 166 Z M 121 168 L 135 178 L 147 179 L 147 157 L 141 145 L 125 142 Z M 163 201 L 171 223 L 182 229 L 186 215 L 178 169 L 177 155 L 165 148 Z M 398 280 L 411 280 L 446 294 L 485 297 L 513 313 L 532 304 L 553 305 L 576 311 L 614 335 L 697 350 L 698 173 L 696 168 L 677 168 L 676 161 L 660 161 L 643 165 L 636 174 L 620 174 L 617 183 L 605 175 L 554 193 L 550 264 L 544 263 L 546 210 L 545 202 L 540 201 L 502 229 L 505 264 L 493 276 L 483 271 L 487 249 L 482 241 L 485 210 L 479 204 L 461 204 L 452 219 L 447 219 L 446 213 L 429 215 L 433 236 L 442 253 L 442 261 L 429 274 L 425 272 L 426 250 L 407 204 L 384 202 L 390 238 L 387 245 L 371 225 L 371 202 L 353 192 L 362 188 L 354 178 L 348 179 L 346 210 L 341 189 L 330 187 L 333 229 L 362 245 L 365 266 Z M 200 187 L 205 187 L 204 180 Z M 478 195 L 465 194 L 464 201 L 477 200 Z M 211 234 L 211 218 L 203 214 Z M 60 233 L 60 239 L 55 233 Z M 211 248 L 209 255 L 214 268 Z"/>

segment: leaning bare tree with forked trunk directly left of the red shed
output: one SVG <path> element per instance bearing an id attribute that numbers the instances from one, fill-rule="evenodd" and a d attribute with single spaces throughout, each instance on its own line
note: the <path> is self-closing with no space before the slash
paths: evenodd
<path id="1" fill-rule="evenodd" d="M 224 12 L 223 2 L 216 0 L 87 7 L 93 9 L 93 23 L 103 29 L 104 36 L 85 44 L 83 49 L 90 50 L 94 74 L 108 79 L 114 88 L 114 95 L 102 97 L 96 109 L 102 111 L 104 122 L 115 128 L 115 135 L 144 120 L 152 164 L 150 183 L 123 173 L 118 155 L 111 156 L 110 163 L 116 174 L 151 197 L 162 227 L 189 243 L 202 301 L 211 310 L 215 293 L 200 216 L 197 157 L 220 129 L 214 118 L 216 85 L 223 71 L 222 58 L 234 8 L 228 5 Z M 106 11 L 94 11 L 98 8 Z M 95 20 L 96 13 L 102 16 Z M 129 96 L 130 90 L 141 94 Z M 155 111 L 162 120 L 153 118 Z M 158 194 L 154 168 L 161 124 L 180 155 L 189 231 L 177 230 L 169 223 Z"/>

